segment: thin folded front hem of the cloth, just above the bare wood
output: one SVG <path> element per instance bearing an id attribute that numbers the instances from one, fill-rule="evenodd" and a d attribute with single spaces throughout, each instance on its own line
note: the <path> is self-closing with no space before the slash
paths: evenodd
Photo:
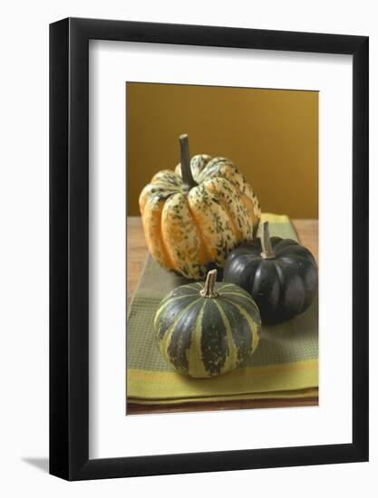
<path id="1" fill-rule="evenodd" d="M 270 393 L 238 394 L 218 397 L 182 397 L 177 399 L 140 399 L 128 397 L 128 403 L 138 405 L 178 405 L 179 403 L 204 403 L 215 401 L 241 401 L 257 399 L 306 399 L 318 397 L 318 388 L 298 389 L 293 391 L 273 391 Z"/>

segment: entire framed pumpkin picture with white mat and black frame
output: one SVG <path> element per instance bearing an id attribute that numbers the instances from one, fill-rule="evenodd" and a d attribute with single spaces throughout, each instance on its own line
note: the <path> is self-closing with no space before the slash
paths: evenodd
<path id="1" fill-rule="evenodd" d="M 50 26 L 50 473 L 368 459 L 368 37 Z"/>

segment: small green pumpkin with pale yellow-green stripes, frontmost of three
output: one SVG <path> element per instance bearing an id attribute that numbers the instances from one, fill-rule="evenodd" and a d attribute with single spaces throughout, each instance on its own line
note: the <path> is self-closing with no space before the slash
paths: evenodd
<path id="1" fill-rule="evenodd" d="M 188 283 L 160 302 L 155 328 L 162 357 L 181 374 L 209 378 L 235 369 L 258 345 L 256 302 L 234 283 Z"/>

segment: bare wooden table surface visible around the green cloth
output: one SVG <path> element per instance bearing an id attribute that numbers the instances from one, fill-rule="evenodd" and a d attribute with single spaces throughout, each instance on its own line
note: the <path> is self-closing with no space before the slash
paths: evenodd
<path id="1" fill-rule="evenodd" d="M 301 244 L 305 245 L 318 262 L 318 221 L 311 219 L 291 220 Z M 129 216 L 127 225 L 127 305 L 139 282 L 141 271 L 148 255 L 140 216 Z M 318 403 L 317 397 L 306 399 L 264 399 L 221 401 L 205 403 L 183 403 L 181 405 L 137 405 L 128 403 L 128 415 L 182 411 L 212 411 L 216 409 L 267 408 L 267 407 L 309 407 Z"/>

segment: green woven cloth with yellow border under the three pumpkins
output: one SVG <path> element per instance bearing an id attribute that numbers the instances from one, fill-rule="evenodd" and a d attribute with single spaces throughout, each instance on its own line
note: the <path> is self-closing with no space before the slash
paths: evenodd
<path id="1" fill-rule="evenodd" d="M 263 215 L 271 235 L 298 240 L 286 216 Z M 127 394 L 129 401 L 184 401 L 256 397 L 313 397 L 318 385 L 317 300 L 302 315 L 264 326 L 257 351 L 238 369 L 219 378 L 179 375 L 161 358 L 153 320 L 163 297 L 188 283 L 163 270 L 150 256 L 131 299 L 127 321 Z"/>

